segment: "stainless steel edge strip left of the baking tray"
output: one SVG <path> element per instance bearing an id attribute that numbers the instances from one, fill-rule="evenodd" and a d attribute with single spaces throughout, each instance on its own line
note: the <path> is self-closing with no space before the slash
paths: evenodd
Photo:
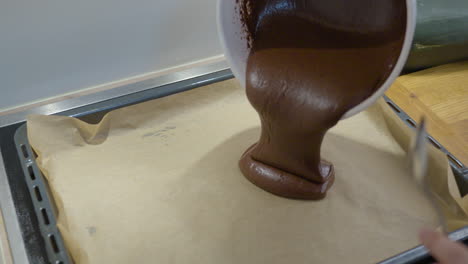
<path id="1" fill-rule="evenodd" d="M 5 165 L 1 159 L 0 149 L 0 207 L 2 209 L 5 229 L 8 234 L 11 255 L 15 263 L 29 263 L 18 223 L 15 206 L 10 192 L 10 184 L 5 174 Z"/>

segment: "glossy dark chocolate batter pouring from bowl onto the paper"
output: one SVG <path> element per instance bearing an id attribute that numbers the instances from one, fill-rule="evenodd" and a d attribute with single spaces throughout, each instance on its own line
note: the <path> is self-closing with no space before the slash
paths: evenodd
<path id="1" fill-rule="evenodd" d="M 241 171 L 276 195 L 321 199 L 334 181 L 333 165 L 320 157 L 323 137 L 390 75 L 406 3 L 239 1 L 250 47 L 247 96 L 262 125 Z"/>

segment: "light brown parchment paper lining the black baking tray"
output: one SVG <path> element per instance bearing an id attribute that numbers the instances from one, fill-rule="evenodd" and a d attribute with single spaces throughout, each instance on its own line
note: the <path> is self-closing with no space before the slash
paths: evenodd
<path id="1" fill-rule="evenodd" d="M 385 107 L 328 134 L 336 182 L 318 202 L 276 197 L 241 175 L 260 122 L 235 80 L 115 110 L 99 125 L 31 116 L 28 134 L 76 263 L 370 263 L 437 225 L 404 166 L 409 132 Z M 445 158 L 432 153 L 430 171 L 451 226 L 465 225 Z"/>

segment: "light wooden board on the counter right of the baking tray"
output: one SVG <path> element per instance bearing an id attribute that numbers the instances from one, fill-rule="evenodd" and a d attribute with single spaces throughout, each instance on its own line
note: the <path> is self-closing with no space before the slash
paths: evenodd
<path id="1" fill-rule="evenodd" d="M 386 95 L 468 166 L 468 61 L 403 75 Z"/>

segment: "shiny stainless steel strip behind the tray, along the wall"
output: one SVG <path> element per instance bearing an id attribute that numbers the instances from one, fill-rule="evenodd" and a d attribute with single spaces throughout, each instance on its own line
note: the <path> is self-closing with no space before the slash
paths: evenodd
<path id="1" fill-rule="evenodd" d="M 51 115 L 59 112 L 63 112 L 66 110 L 78 108 L 81 106 L 86 106 L 89 104 L 117 98 L 120 96 L 125 96 L 129 94 L 133 94 L 136 92 L 141 92 L 144 90 L 148 90 L 154 87 L 159 87 L 175 82 L 180 82 L 183 80 L 200 77 L 209 73 L 213 73 L 216 71 L 227 70 L 229 66 L 227 62 L 221 61 L 209 65 L 203 65 L 200 67 L 194 67 L 191 69 L 183 70 L 180 72 L 171 73 L 168 75 L 163 75 L 160 77 L 156 77 L 153 79 L 145 80 L 138 83 L 133 83 L 117 88 L 113 88 L 110 90 L 97 92 L 90 95 L 85 95 L 82 97 L 72 98 L 68 100 L 63 100 L 60 102 L 39 106 L 36 108 L 28 109 L 22 112 L 13 113 L 10 115 L 0 116 L 0 127 L 8 126 L 11 124 L 15 124 L 18 122 L 22 122 L 26 120 L 26 117 L 31 114 L 43 114 L 43 115 Z"/>

